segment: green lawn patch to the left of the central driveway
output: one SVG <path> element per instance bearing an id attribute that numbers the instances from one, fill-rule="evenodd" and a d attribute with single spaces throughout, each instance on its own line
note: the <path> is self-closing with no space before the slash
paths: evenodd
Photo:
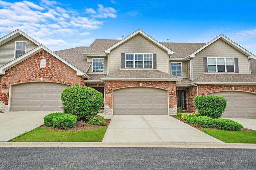
<path id="1" fill-rule="evenodd" d="M 59 131 L 38 127 L 9 142 L 101 142 L 107 128 L 82 131 Z"/>

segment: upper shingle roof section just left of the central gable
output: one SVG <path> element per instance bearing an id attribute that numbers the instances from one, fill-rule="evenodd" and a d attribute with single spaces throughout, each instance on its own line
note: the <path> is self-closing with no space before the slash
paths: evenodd
<path id="1" fill-rule="evenodd" d="M 86 48 L 84 53 L 105 54 L 104 50 L 121 41 L 120 39 L 95 39 L 90 47 Z"/>

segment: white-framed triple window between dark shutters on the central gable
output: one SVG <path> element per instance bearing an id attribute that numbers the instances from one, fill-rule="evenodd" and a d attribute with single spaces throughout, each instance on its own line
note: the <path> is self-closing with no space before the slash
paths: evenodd
<path id="1" fill-rule="evenodd" d="M 153 68 L 152 54 L 125 54 L 125 68 Z"/>

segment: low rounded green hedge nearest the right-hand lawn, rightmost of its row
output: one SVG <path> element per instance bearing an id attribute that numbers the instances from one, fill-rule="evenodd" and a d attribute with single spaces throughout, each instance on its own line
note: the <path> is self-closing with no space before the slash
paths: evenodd
<path id="1" fill-rule="evenodd" d="M 242 125 L 230 119 L 214 119 L 214 127 L 227 131 L 241 131 Z"/>

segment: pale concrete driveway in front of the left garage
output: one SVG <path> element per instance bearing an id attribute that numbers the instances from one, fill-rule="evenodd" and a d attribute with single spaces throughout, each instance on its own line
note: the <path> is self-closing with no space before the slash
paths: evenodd
<path id="1" fill-rule="evenodd" d="M 49 113 L 54 113 L 54 111 L 9 111 L 0 113 L 0 141 L 9 141 L 22 133 L 43 125 L 44 116 Z"/>

